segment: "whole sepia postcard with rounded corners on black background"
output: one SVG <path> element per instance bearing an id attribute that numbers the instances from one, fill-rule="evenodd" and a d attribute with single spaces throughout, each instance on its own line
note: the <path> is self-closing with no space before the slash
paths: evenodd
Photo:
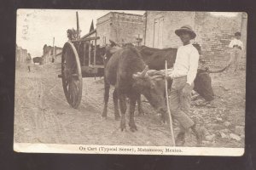
<path id="1" fill-rule="evenodd" d="M 14 150 L 242 156 L 247 14 L 17 10 Z"/>

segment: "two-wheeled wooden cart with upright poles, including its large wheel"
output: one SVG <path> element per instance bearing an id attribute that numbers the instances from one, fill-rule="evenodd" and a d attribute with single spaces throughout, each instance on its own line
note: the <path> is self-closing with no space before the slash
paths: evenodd
<path id="1" fill-rule="evenodd" d="M 80 37 L 78 13 L 75 32 L 67 31 L 69 40 L 62 49 L 61 74 L 58 75 L 62 79 L 67 102 L 73 108 L 77 108 L 81 102 L 83 78 L 104 76 L 103 54 L 96 43 L 100 37 L 97 37 L 96 30 L 90 31 L 86 37 Z"/>

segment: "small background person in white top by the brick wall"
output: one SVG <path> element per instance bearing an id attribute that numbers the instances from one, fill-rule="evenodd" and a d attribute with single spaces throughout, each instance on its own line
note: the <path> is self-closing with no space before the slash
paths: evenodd
<path id="1" fill-rule="evenodd" d="M 231 40 L 229 48 L 231 48 L 231 53 L 230 53 L 230 61 L 235 65 L 235 71 L 239 69 L 239 61 L 241 59 L 241 52 L 243 49 L 243 44 L 241 42 L 241 33 L 236 32 L 235 33 L 235 38 Z"/>

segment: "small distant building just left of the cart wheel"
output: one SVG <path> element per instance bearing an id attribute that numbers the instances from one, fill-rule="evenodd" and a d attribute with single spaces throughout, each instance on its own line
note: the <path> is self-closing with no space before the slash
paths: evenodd
<path id="1" fill-rule="evenodd" d="M 54 61 L 61 61 L 61 53 L 62 53 L 62 48 L 59 47 L 52 47 L 52 46 L 47 46 L 47 44 L 44 45 L 43 48 L 43 64 L 49 64 Z"/>

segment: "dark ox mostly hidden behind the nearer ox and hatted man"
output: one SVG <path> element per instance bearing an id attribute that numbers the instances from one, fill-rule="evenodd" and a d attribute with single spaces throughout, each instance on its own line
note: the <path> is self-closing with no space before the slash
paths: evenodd
<path id="1" fill-rule="evenodd" d="M 129 45 L 129 47 L 131 47 L 131 45 Z M 195 46 L 195 48 L 198 48 L 198 47 Z M 105 65 L 108 62 L 108 59 L 110 59 L 111 55 L 114 54 L 119 49 L 120 49 L 119 45 L 111 41 L 111 46 L 110 48 L 108 48 L 105 55 L 105 59 L 104 59 Z M 199 49 L 199 52 L 201 52 L 201 49 L 200 48 L 198 49 Z M 137 50 L 142 55 L 143 61 L 148 65 L 148 68 L 150 70 L 156 70 L 156 71 L 165 69 L 166 60 L 167 60 L 167 67 L 171 68 L 175 62 L 176 54 L 177 54 L 177 48 L 158 49 L 158 48 L 148 48 L 146 46 L 141 46 L 141 47 L 137 47 Z M 212 90 L 212 79 L 209 73 L 218 73 L 218 72 L 224 71 L 229 65 L 230 65 L 230 62 L 223 69 L 219 69 L 216 71 L 211 71 L 208 68 L 198 69 L 197 75 L 195 77 L 194 90 L 207 101 L 214 99 L 214 94 Z M 168 88 L 171 88 L 171 87 L 172 87 L 172 80 L 170 79 L 168 80 Z M 115 95 L 116 95 L 116 92 L 114 91 L 113 100 L 115 100 L 116 98 Z M 107 116 L 106 105 L 108 105 L 108 98 L 109 98 L 109 85 L 108 83 L 105 83 L 105 93 L 104 93 L 105 106 L 102 112 L 102 116 Z M 143 109 L 141 106 L 140 96 L 137 101 L 138 101 L 137 102 L 138 112 L 139 114 L 141 114 L 143 113 Z M 114 114 L 116 117 L 119 116 L 118 105 L 116 105 L 115 103 L 114 103 Z"/>

